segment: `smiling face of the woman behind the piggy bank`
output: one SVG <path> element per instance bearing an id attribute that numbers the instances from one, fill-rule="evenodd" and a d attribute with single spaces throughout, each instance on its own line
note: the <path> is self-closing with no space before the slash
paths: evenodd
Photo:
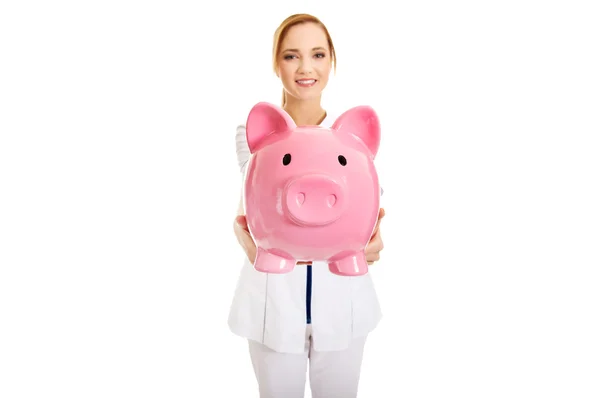
<path id="1" fill-rule="evenodd" d="M 319 98 L 331 72 L 327 36 L 314 23 L 292 26 L 281 43 L 278 76 L 289 95 L 300 100 Z"/>

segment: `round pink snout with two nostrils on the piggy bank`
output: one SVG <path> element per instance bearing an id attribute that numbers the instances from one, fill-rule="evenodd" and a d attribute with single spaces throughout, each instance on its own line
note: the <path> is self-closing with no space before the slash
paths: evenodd
<path id="1" fill-rule="evenodd" d="M 344 211 L 343 186 L 324 175 L 306 175 L 292 180 L 283 192 L 284 212 L 299 225 L 326 225 Z"/>

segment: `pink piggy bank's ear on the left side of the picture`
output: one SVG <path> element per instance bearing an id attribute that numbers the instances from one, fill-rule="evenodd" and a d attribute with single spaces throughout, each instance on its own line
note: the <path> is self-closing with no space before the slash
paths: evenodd
<path id="1" fill-rule="evenodd" d="M 246 121 L 246 140 L 254 153 L 262 140 L 273 133 L 284 133 L 296 127 L 292 117 L 280 107 L 267 102 L 254 105 Z"/>

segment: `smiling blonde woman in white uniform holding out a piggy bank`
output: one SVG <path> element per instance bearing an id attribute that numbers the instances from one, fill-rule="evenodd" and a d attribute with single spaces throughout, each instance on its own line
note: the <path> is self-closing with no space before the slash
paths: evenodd
<path id="1" fill-rule="evenodd" d="M 273 67 L 284 87 L 282 107 L 297 125 L 329 127 L 335 121 L 321 105 L 335 61 L 331 37 L 316 17 L 292 15 L 276 30 Z M 244 126 L 237 129 L 236 144 L 243 173 L 249 158 Z M 369 264 L 379 260 L 383 249 L 383 214 L 381 209 L 366 248 Z M 356 397 L 366 336 L 381 318 L 370 275 L 337 276 L 316 262 L 286 274 L 261 273 L 252 266 L 256 246 L 241 201 L 234 230 L 247 259 L 229 326 L 249 341 L 260 396 L 304 397 L 310 359 L 314 398 Z"/>

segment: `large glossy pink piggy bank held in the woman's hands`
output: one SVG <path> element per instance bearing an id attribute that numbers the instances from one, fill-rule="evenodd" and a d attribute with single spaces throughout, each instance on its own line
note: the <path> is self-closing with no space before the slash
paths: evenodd
<path id="1" fill-rule="evenodd" d="M 373 109 L 352 108 L 331 128 L 303 127 L 261 102 L 250 111 L 246 138 L 243 198 L 255 269 L 281 274 L 297 261 L 325 261 L 337 275 L 366 274 L 380 200 Z"/>

